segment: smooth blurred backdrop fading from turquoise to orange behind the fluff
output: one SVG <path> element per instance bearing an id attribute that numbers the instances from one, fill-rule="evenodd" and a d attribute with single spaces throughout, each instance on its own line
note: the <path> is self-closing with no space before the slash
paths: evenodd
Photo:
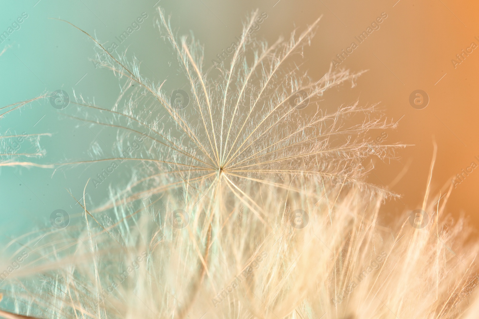
<path id="1" fill-rule="evenodd" d="M 395 131 L 388 131 L 383 143 L 405 143 L 412 146 L 397 151 L 397 160 L 376 161 L 370 181 L 403 195 L 400 200 L 383 207 L 384 222 L 401 211 L 419 208 L 426 188 L 433 140 L 438 154 L 432 181 L 432 194 L 439 192 L 452 177 L 460 173 L 474 158 L 479 157 L 478 96 L 479 48 L 454 68 L 451 59 L 474 39 L 479 38 L 479 3 L 451 0 L 370 0 L 370 1 L 219 1 L 219 0 L 0 0 L 0 33 L 6 30 L 22 12 L 28 18 L 21 29 L 0 44 L 8 50 L 0 56 L 0 106 L 34 98 L 46 91 L 63 89 L 73 96 L 82 94 L 94 98 L 98 105 L 109 107 L 119 92 L 117 80 L 108 70 L 95 69 L 93 43 L 83 33 L 60 18 L 72 22 L 96 35 L 106 43 L 126 30 L 141 15 L 148 18 L 138 31 L 120 44 L 118 52 L 128 49 L 143 61 L 141 72 L 163 80 L 172 72 L 169 62 L 174 57 L 168 44 L 160 38 L 154 21 L 155 7 L 160 5 L 171 13 L 172 26 L 179 35 L 191 31 L 205 45 L 205 64 L 228 47 L 241 32 L 241 22 L 258 8 L 268 18 L 255 32 L 259 39 L 274 42 L 278 36 L 288 37 L 297 27 L 300 31 L 322 20 L 311 45 L 304 50 L 303 70 L 320 78 L 329 69 L 336 54 L 349 47 L 382 12 L 388 18 L 364 43 L 341 64 L 354 72 L 368 70 L 350 89 L 342 86 L 325 95 L 324 105 L 334 107 L 359 99 L 361 105 L 381 102 L 384 114 L 399 120 Z M 116 42 L 116 41 L 115 41 Z M 356 41 L 357 42 L 357 41 Z M 429 96 L 429 105 L 416 110 L 409 96 L 416 89 Z M 69 106 L 68 108 L 72 108 Z M 66 109 L 67 110 L 67 109 Z M 305 109 L 303 111 L 308 111 Z M 71 112 L 71 110 L 70 110 Z M 54 109 L 47 101 L 32 103 L 14 111 L 0 121 L 0 133 L 43 133 L 47 150 L 38 163 L 59 163 L 88 160 L 91 143 L 110 145 L 113 131 L 87 126 L 62 116 L 65 110 Z M 36 123 L 36 124 L 35 124 Z M 380 135 L 380 132 L 377 133 Z M 375 136 L 371 136 L 375 138 Z M 103 145 L 104 144 L 104 145 Z M 57 171 L 40 168 L 3 167 L 0 175 L 0 242 L 34 228 L 47 228 L 55 209 L 65 209 L 74 221 L 82 209 L 75 205 L 81 198 L 88 178 L 95 176 L 106 164 L 67 168 Z M 115 173 L 109 182 L 122 183 L 129 179 L 128 166 Z M 407 170 L 406 170 L 407 169 Z M 476 172 L 477 171 L 477 172 Z M 390 183 L 397 176 L 404 176 Z M 479 226 L 476 206 L 479 168 L 454 189 L 446 209 L 455 217 L 464 213 L 471 223 Z M 91 188 L 92 201 L 106 196 L 105 183 Z"/>

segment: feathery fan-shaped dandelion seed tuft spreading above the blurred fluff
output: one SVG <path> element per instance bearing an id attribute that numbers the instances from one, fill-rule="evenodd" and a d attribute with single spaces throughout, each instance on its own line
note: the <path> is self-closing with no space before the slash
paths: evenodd
<path id="1" fill-rule="evenodd" d="M 115 58 L 93 38 L 101 50 L 99 65 L 118 75 L 123 91 L 112 110 L 81 97 L 75 102 L 80 110 L 87 109 L 89 116 L 96 117 L 82 121 L 119 127 L 125 134 L 148 135 L 148 152 L 126 158 L 155 166 L 148 166 L 152 172 L 150 179 L 135 184 L 146 186 L 148 192 L 130 187 L 127 190 L 131 195 L 122 199 L 123 203 L 137 201 L 146 194 L 156 196 L 170 188 L 192 189 L 185 187 L 184 181 L 203 183 L 209 196 L 221 185 L 253 206 L 255 203 L 243 193 L 244 185 L 254 182 L 268 187 L 285 179 L 298 180 L 297 176 L 339 180 L 383 191 L 362 180 L 365 169 L 361 160 L 371 154 L 384 157 L 388 150 L 400 145 L 377 145 L 373 149 L 365 143 L 364 136 L 370 130 L 392 124 L 366 119 L 360 125 L 347 127 L 346 117 L 372 111 L 374 107 L 360 108 L 355 103 L 331 113 L 319 107 L 319 97 L 326 90 L 346 81 L 354 83 L 360 74 L 332 71 L 330 67 L 325 76 L 315 81 L 297 74 L 294 68 L 293 55 L 310 42 L 319 19 L 303 33 L 293 33 L 290 40 L 280 39 L 268 46 L 246 36 L 258 16 L 255 11 L 244 25 L 230 65 L 223 64 L 219 67 L 220 75 L 210 77 L 203 70 L 202 47 L 192 37 L 177 40 L 168 17 L 162 10 L 159 15 L 160 32 L 171 43 L 189 84 L 191 107 L 183 110 L 173 106 L 167 92 L 161 89 L 164 81 L 154 83 L 142 77 L 136 61 L 127 62 L 125 56 Z M 316 109 L 313 115 L 302 114 L 294 105 L 297 92 L 303 92 L 301 99 L 309 101 L 311 110 Z M 122 146 L 118 150 L 121 153 Z M 112 154 L 110 160 L 117 157 Z M 105 159 L 81 163 L 98 161 Z M 170 182 L 159 187 L 160 180 L 155 178 L 158 174 L 168 176 Z M 103 209 L 117 203 L 111 202 Z"/>

